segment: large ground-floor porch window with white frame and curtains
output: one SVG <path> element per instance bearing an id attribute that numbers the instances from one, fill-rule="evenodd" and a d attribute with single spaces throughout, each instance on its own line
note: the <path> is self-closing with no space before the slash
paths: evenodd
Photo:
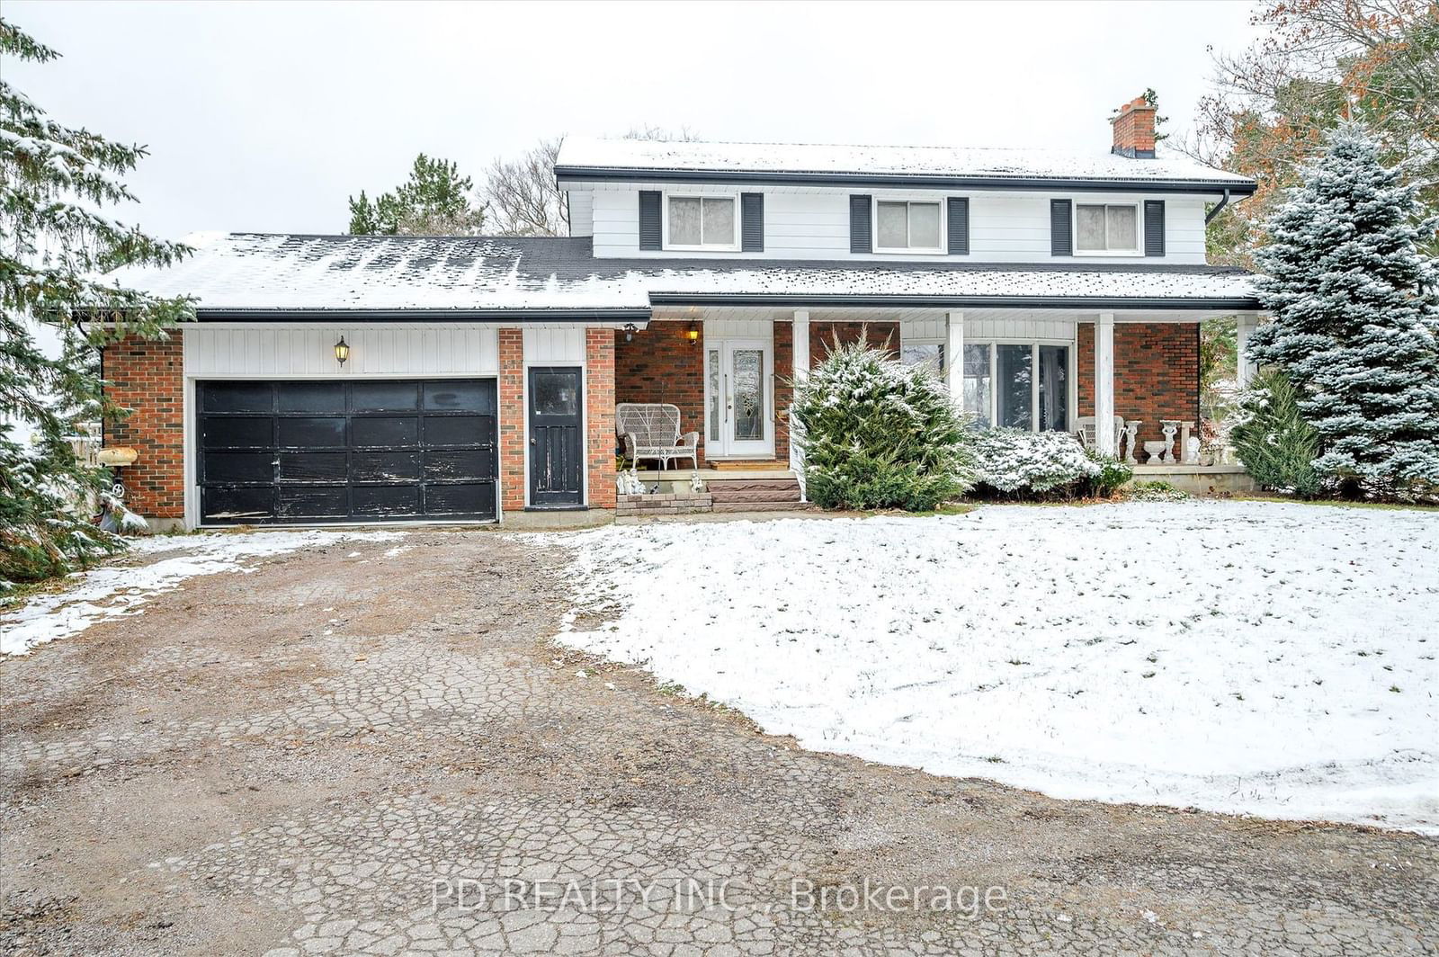
<path id="1" fill-rule="evenodd" d="M 1069 430 L 1073 351 L 1048 343 L 966 343 L 964 410 L 980 427 Z"/>

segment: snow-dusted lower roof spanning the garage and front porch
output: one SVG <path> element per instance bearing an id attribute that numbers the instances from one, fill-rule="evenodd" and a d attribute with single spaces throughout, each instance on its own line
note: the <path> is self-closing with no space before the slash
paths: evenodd
<path id="1" fill-rule="evenodd" d="M 648 311 L 659 304 L 802 298 L 816 305 L 1082 307 L 1122 301 L 1134 308 L 1158 308 L 1158 302 L 1253 308 L 1250 275 L 1220 266 L 773 259 L 717 266 L 701 259 L 596 259 L 589 239 L 551 237 L 229 233 L 209 237 L 177 266 L 127 266 L 111 278 L 157 295 L 193 295 L 201 318 L 250 311 L 535 311 L 532 318 L 543 319 L 545 311 Z M 1111 308 L 1124 308 L 1122 302 Z"/>

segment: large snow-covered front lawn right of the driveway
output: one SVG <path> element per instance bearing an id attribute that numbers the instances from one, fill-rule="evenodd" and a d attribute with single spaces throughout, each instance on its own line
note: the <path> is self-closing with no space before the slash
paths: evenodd
<path id="1" fill-rule="evenodd" d="M 550 538 L 564 645 L 806 747 L 1066 799 L 1439 833 L 1439 514 L 1266 502 Z"/>

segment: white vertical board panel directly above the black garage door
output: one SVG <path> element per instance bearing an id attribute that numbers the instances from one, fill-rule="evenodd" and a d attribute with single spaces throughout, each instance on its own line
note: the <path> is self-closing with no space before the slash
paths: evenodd
<path id="1" fill-rule="evenodd" d="M 191 378 L 355 378 L 361 376 L 495 376 L 494 325 L 187 325 Z M 583 332 L 581 332 L 583 334 Z M 344 335 L 350 361 L 335 361 Z"/>

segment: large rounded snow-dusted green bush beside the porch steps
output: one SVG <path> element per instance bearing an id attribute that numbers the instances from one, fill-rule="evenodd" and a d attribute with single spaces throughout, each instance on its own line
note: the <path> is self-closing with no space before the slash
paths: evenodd
<path id="1" fill-rule="evenodd" d="M 863 343 L 840 345 L 794 390 L 809 499 L 927 511 L 974 481 L 970 433 L 944 383 Z"/>

